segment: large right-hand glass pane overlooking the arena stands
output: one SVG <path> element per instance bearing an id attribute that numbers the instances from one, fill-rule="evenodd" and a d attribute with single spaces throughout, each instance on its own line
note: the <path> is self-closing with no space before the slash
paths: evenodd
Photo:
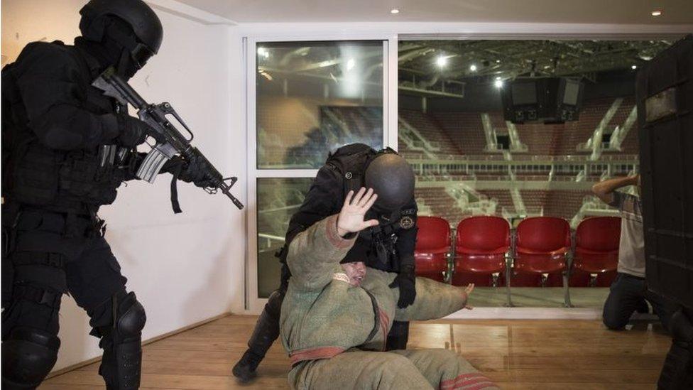
<path id="1" fill-rule="evenodd" d="M 496 215 L 511 226 L 525 217 L 560 217 L 572 229 L 587 217 L 618 217 L 592 195 L 591 186 L 637 168 L 635 77 L 670 44 L 669 39 L 400 41 L 398 151 L 422 167 L 416 171 L 419 215 L 443 217 L 453 228 L 472 215 Z M 547 104 L 577 114 L 559 117 L 556 109 L 538 116 Z M 522 107 L 530 107 L 529 114 L 518 117 Z M 457 165 L 469 169 L 451 174 L 449 167 Z M 612 234 L 611 242 L 618 243 L 613 230 L 589 234 L 601 239 Z M 616 276 L 616 258 L 611 259 L 601 273 L 583 271 L 586 266 L 570 270 L 573 305 L 601 309 Z M 457 260 L 452 283 L 476 283 L 472 305 L 507 303 L 505 270 L 466 271 L 477 260 Z M 521 262 L 513 263 L 509 278 L 513 303 L 564 305 L 563 270 L 528 271 Z"/>

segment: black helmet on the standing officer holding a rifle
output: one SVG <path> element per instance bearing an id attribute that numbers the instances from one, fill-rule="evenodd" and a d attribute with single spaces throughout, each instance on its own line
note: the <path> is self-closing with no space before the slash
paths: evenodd
<path id="1" fill-rule="evenodd" d="M 132 28 L 137 38 L 132 43 L 125 37 L 109 36 L 119 41 L 130 51 L 134 65 L 141 68 L 161 45 L 163 28 L 156 13 L 142 0 L 91 0 L 80 10 L 80 31 L 88 40 L 101 42 L 104 35 L 111 33 L 107 28 L 107 17 L 117 16 Z"/>

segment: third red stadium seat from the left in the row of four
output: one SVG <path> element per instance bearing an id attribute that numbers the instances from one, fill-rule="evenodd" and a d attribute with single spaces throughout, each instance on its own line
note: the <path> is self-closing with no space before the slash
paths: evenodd
<path id="1" fill-rule="evenodd" d="M 530 217 L 518 224 L 513 266 L 518 273 L 562 273 L 565 304 L 570 306 L 566 255 L 570 226 L 562 218 Z"/>

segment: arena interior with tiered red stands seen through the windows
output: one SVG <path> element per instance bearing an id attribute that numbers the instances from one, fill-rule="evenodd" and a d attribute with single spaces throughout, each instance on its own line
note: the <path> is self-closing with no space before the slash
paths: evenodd
<path id="1" fill-rule="evenodd" d="M 527 217 L 557 217 L 566 220 L 572 232 L 589 217 L 618 217 L 617 210 L 591 193 L 591 187 L 607 178 L 638 173 L 635 75 L 638 64 L 670 44 L 667 40 L 400 41 L 398 151 L 416 173 L 419 215 L 443 218 L 453 237 L 457 224 L 475 215 L 502 217 L 513 228 Z M 258 77 L 258 164 L 319 168 L 326 157 L 322 151 L 334 151 L 344 143 L 379 148 L 381 75 L 371 75 L 356 99 L 342 90 L 325 97 L 320 80 L 329 79 L 331 67 L 302 72 L 281 84 L 269 77 L 285 70 L 276 70 L 269 62 L 286 63 L 299 50 L 310 50 L 315 57 L 309 60 L 317 64 L 340 52 L 360 52 L 354 58 L 359 63 L 364 58 L 370 74 L 377 64 L 368 58 L 380 46 L 289 51 L 285 45 L 268 45 L 258 52 L 258 63 L 268 62 L 258 65 L 262 76 Z M 305 62 L 300 66 L 311 67 Z M 579 119 L 558 124 L 506 121 L 500 92 L 517 77 L 582 80 Z M 258 283 L 264 296 L 275 288 L 279 269 L 274 254 L 283 245 L 288 217 L 298 210 L 309 187 L 307 178 L 258 181 Z M 618 241 L 618 231 L 607 234 Z M 474 282 L 491 287 L 481 288 L 475 297 L 482 307 L 508 305 L 511 299 L 520 307 L 601 308 L 616 276 L 614 266 L 599 273 L 573 268 L 568 283 L 572 295 L 566 301 L 563 271 L 518 273 L 511 268 L 511 294 L 518 294 L 512 300 L 503 288 L 505 270 L 455 272 L 449 247 L 449 266 L 433 277 L 460 286 Z"/>

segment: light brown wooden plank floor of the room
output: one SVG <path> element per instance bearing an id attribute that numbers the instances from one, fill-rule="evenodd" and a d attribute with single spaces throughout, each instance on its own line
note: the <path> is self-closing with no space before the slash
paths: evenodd
<path id="1" fill-rule="evenodd" d="M 231 376 L 255 321 L 230 315 L 146 345 L 142 389 L 288 389 L 278 342 L 253 384 Z M 654 389 L 670 339 L 648 325 L 611 332 L 599 321 L 466 320 L 412 324 L 409 345 L 452 347 L 502 389 Z M 39 389 L 104 389 L 97 369 L 67 372 Z"/>

